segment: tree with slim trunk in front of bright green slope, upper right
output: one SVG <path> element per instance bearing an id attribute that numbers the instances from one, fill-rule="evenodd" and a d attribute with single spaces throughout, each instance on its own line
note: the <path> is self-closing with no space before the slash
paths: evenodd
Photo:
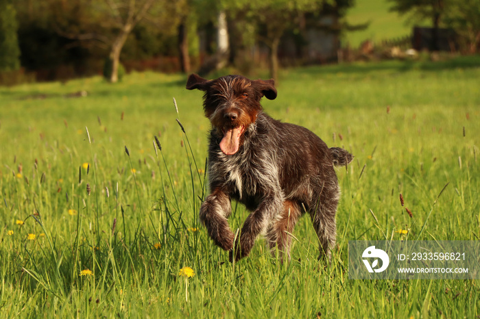
<path id="1" fill-rule="evenodd" d="M 433 25 L 433 34 L 431 42 L 431 50 L 438 50 L 438 38 L 440 24 L 448 7 L 448 0 L 389 0 L 393 3 L 391 11 L 400 14 L 410 12 L 413 18 L 422 20 L 424 18 L 431 19 Z"/>

